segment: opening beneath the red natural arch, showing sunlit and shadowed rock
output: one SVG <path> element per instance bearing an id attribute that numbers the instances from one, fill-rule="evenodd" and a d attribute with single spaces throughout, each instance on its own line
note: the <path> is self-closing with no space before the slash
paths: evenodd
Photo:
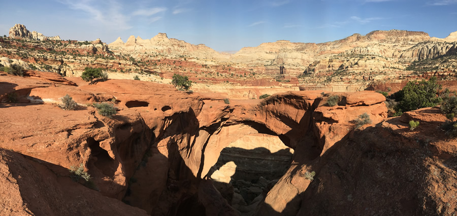
<path id="1" fill-rule="evenodd" d="M 278 136 L 259 133 L 248 125 L 228 126 L 237 136 L 216 138 L 230 142 L 209 176 L 222 196 L 242 214 L 249 214 L 290 165 L 293 150 Z M 221 130 L 222 131 L 222 130 Z M 262 131 L 266 132 L 266 131 Z M 226 142 L 225 142 L 226 143 Z"/>

